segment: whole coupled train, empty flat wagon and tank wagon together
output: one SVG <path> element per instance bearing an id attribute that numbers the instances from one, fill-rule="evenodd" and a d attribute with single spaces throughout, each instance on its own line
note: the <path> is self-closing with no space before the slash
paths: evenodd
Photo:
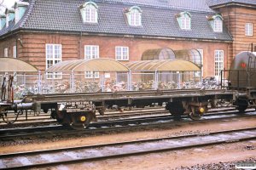
<path id="1" fill-rule="evenodd" d="M 187 115 L 198 120 L 207 113 L 209 105 L 216 107 L 218 102 L 229 102 L 238 111 L 247 107 L 256 108 L 256 64 L 255 54 L 242 52 L 234 59 L 230 70 L 223 71 L 221 88 L 214 90 L 176 89 L 147 90 L 126 92 L 99 92 L 80 94 L 32 94 L 25 95 L 22 100 L 3 101 L 0 103 L 0 116 L 8 115 L 8 111 L 50 111 L 51 117 L 62 125 L 73 128 L 88 127 L 96 117 L 96 111 L 101 115 L 113 105 L 121 107 L 144 107 L 148 105 L 165 105 L 172 116 L 181 118 Z M 229 82 L 224 86 L 224 77 Z M 10 78 L 11 80 L 11 78 Z M 9 82 L 9 89 L 11 83 Z M 13 92 L 10 92 L 11 96 Z"/>

